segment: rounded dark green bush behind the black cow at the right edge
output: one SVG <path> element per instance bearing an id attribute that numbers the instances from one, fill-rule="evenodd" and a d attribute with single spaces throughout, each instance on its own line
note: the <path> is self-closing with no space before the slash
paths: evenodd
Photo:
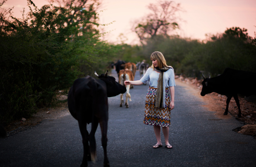
<path id="1" fill-rule="evenodd" d="M 223 73 L 227 67 L 256 72 L 256 46 L 246 31 L 230 28 L 203 44 L 201 70 L 209 71 L 213 76 Z"/>

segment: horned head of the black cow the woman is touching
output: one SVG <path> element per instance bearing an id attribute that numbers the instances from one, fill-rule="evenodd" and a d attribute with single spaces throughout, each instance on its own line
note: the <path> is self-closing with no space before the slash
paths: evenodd
<path id="1" fill-rule="evenodd" d="M 114 77 L 108 76 L 108 70 L 105 74 L 98 75 L 96 71 L 94 74 L 106 83 L 108 97 L 113 97 L 125 93 L 126 87 L 116 82 Z"/>

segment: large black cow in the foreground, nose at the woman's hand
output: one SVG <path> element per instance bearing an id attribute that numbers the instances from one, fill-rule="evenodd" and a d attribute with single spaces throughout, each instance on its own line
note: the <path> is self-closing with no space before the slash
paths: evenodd
<path id="1" fill-rule="evenodd" d="M 125 86 L 116 82 L 114 77 L 108 76 L 108 71 L 100 76 L 95 72 L 95 75 L 99 79 L 94 79 L 91 76 L 76 79 L 68 94 L 69 112 L 78 121 L 82 135 L 84 155 L 81 167 L 87 167 L 87 160 L 95 161 L 95 132 L 98 123 L 102 131 L 104 166 L 109 166 L 106 150 L 108 141 L 108 97 L 113 97 L 126 91 Z M 86 124 L 89 123 L 92 123 L 90 134 L 86 129 Z"/>

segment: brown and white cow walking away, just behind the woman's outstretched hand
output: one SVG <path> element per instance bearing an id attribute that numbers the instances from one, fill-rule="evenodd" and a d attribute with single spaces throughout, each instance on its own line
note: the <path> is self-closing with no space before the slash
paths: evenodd
<path id="1" fill-rule="evenodd" d="M 131 70 L 128 70 L 128 69 L 122 69 L 119 71 L 119 83 L 121 85 L 125 85 L 125 81 L 133 81 L 134 80 L 134 77 L 133 77 L 133 74 L 131 72 Z M 126 108 L 129 108 L 129 105 L 128 105 L 128 99 L 129 101 L 131 101 L 131 95 L 130 95 L 130 86 L 131 85 L 126 85 L 126 99 L 125 99 L 125 105 L 126 105 Z M 122 103 L 124 102 L 124 98 L 123 98 L 123 94 L 121 94 L 121 103 L 120 103 L 120 107 L 122 107 Z"/>

